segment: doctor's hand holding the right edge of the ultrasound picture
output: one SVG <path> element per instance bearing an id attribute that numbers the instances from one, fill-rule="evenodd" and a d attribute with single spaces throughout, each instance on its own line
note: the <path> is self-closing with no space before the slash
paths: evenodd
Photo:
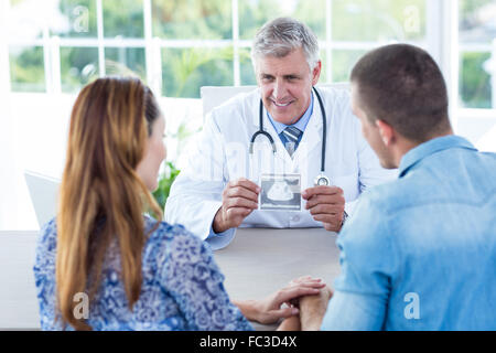
<path id="1" fill-rule="evenodd" d="M 345 199 L 343 190 L 337 186 L 315 186 L 303 191 L 306 210 L 317 222 L 324 224 L 330 232 L 339 232 L 343 225 Z"/>

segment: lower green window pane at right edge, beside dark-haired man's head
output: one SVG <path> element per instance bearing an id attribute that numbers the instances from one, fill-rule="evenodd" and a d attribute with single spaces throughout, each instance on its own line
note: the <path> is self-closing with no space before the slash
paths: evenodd
<path id="1" fill-rule="evenodd" d="M 484 69 L 489 53 L 463 53 L 460 65 L 460 94 L 465 108 L 496 108 L 490 101 L 490 75 Z"/>

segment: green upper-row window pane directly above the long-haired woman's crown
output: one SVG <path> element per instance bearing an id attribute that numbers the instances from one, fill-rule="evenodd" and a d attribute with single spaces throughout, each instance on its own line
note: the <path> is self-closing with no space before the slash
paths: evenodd
<path id="1" fill-rule="evenodd" d="M 105 0 L 104 35 L 106 38 L 143 38 L 142 0 Z"/>

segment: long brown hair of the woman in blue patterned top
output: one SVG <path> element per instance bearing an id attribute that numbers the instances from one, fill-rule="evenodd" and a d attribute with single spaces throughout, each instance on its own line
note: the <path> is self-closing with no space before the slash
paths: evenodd
<path id="1" fill-rule="evenodd" d="M 76 319 L 74 296 L 94 298 L 107 248 L 120 249 L 120 278 L 132 310 L 141 291 L 143 212 L 162 212 L 136 169 L 160 109 L 138 78 L 100 78 L 74 105 L 57 212 L 56 290 L 64 323 L 90 330 Z"/>

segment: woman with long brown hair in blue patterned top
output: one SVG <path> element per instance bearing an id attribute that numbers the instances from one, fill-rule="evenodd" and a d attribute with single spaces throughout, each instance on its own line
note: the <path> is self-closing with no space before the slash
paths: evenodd
<path id="1" fill-rule="evenodd" d="M 161 222 L 150 193 L 164 127 L 137 78 L 100 78 L 77 97 L 57 216 L 36 247 L 43 330 L 250 330 L 247 319 L 294 317 L 281 304 L 323 288 L 306 278 L 263 300 L 229 300 L 208 245 Z"/>

